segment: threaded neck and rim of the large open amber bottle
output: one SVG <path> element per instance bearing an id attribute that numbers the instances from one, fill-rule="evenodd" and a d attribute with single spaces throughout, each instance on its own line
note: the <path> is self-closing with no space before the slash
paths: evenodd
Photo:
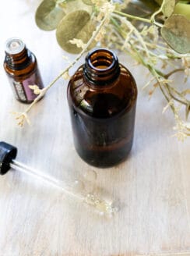
<path id="1" fill-rule="evenodd" d="M 86 56 L 83 74 L 90 84 L 105 86 L 118 79 L 120 66 L 114 52 L 107 49 L 93 50 Z"/>

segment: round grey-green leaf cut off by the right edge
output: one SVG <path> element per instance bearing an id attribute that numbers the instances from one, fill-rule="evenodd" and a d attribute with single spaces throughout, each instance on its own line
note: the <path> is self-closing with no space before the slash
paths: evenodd
<path id="1" fill-rule="evenodd" d="M 190 52 L 190 21 L 185 16 L 174 14 L 161 29 L 162 37 L 176 52 Z"/>

